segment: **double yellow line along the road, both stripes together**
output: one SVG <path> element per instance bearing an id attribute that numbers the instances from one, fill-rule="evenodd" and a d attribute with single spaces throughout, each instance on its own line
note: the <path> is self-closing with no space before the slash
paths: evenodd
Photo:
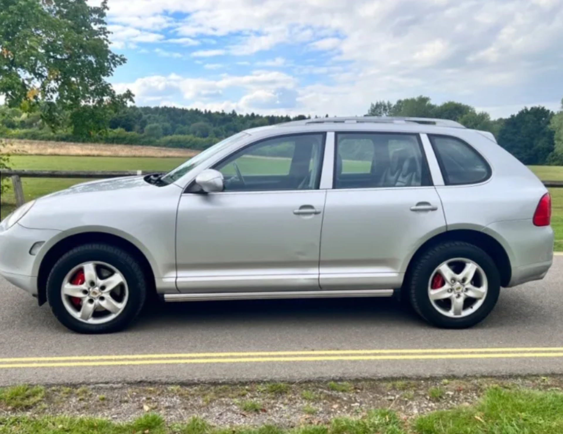
<path id="1" fill-rule="evenodd" d="M 305 361 L 378 361 L 563 358 L 563 347 L 408 350 L 328 350 L 273 352 L 202 352 L 105 356 L 26 357 L 0 359 L 0 369 L 75 368 L 93 366 L 182 365 L 215 363 L 287 363 Z"/>

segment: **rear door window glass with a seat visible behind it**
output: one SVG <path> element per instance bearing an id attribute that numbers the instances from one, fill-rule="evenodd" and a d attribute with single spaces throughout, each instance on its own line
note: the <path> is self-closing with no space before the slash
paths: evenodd
<path id="1" fill-rule="evenodd" d="M 338 133 L 334 188 L 430 185 L 417 134 Z"/>

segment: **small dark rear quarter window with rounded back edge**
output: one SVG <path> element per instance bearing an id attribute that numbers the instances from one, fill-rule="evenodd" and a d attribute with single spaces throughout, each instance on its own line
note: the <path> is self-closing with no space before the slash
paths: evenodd
<path id="1" fill-rule="evenodd" d="M 446 186 L 476 184 L 489 179 L 487 162 L 467 143 L 455 137 L 428 134 Z"/>

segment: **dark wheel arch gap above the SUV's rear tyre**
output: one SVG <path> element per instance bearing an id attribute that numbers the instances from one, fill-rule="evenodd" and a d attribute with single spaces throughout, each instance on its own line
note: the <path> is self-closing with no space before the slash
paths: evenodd
<path id="1" fill-rule="evenodd" d="M 421 257 L 428 249 L 449 241 L 466 242 L 484 250 L 491 256 L 495 265 L 497 265 L 497 269 L 501 275 L 501 286 L 507 286 L 508 283 L 510 283 L 512 278 L 512 265 L 510 256 L 508 256 L 506 249 L 503 247 L 501 242 L 490 234 L 474 229 L 446 230 L 446 232 L 441 232 L 428 239 L 425 243 L 419 246 L 410 257 L 405 271 L 405 282 L 408 282 L 409 275 L 419 257 Z"/>

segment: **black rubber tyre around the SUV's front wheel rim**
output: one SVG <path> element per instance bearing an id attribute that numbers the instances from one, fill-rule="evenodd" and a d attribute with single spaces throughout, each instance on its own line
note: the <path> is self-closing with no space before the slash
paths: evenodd
<path id="1" fill-rule="evenodd" d="M 66 275 L 76 266 L 88 261 L 99 261 L 118 269 L 129 289 L 127 305 L 118 317 L 104 324 L 88 324 L 73 317 L 62 301 L 61 286 Z M 73 248 L 53 266 L 47 279 L 47 301 L 55 317 L 67 328 L 83 334 L 115 333 L 127 328 L 145 304 L 147 285 L 141 267 L 127 251 L 92 243 Z"/>

